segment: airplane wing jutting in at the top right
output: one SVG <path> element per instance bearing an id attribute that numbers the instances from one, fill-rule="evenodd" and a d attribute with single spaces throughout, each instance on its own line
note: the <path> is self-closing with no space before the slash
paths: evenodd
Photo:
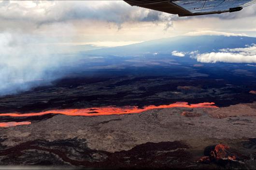
<path id="1" fill-rule="evenodd" d="M 139 6 L 179 16 L 236 12 L 256 0 L 124 0 L 131 6 Z"/>

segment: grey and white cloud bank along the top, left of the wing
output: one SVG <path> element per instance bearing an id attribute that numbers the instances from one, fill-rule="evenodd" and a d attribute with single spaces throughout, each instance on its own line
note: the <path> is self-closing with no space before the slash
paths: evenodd
<path id="1" fill-rule="evenodd" d="M 119 25 L 125 22 L 165 22 L 168 29 L 176 15 L 140 7 L 121 0 L 101 1 L 1 1 L 0 19 L 28 21 L 37 25 L 71 20 L 97 20 Z"/>

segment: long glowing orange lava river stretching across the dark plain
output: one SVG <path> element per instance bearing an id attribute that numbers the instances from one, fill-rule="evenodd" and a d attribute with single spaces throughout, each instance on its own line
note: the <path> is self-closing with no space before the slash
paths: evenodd
<path id="1" fill-rule="evenodd" d="M 101 115 L 121 115 L 121 114 L 131 114 L 131 113 L 141 113 L 147 110 L 160 109 L 160 108 L 171 108 L 171 107 L 188 107 L 188 108 L 217 108 L 214 103 L 199 103 L 188 105 L 187 102 L 176 102 L 170 105 L 148 105 L 143 108 L 138 108 L 138 106 L 106 106 L 106 107 L 91 107 L 84 109 L 59 109 L 59 110 L 48 110 L 37 113 L 2 113 L 0 116 L 9 117 L 31 117 L 31 116 L 42 116 L 46 114 L 62 114 L 68 116 L 101 116 Z"/>

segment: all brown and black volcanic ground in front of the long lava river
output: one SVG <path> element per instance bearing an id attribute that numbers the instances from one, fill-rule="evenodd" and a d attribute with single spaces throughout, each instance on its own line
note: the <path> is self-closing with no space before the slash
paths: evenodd
<path id="1" fill-rule="evenodd" d="M 239 114 L 241 110 L 237 110 L 238 107 L 249 111 Z M 157 160 L 154 166 L 158 168 L 217 169 L 223 166 L 215 162 L 207 165 L 198 160 L 204 156 L 207 146 L 226 144 L 250 157 L 244 160 L 246 164 L 229 162 L 228 168 L 252 168 L 256 165 L 256 161 L 251 160 L 256 144 L 250 142 L 256 129 L 254 107 L 256 103 L 223 108 L 164 108 L 138 114 L 94 117 L 57 115 L 30 125 L 1 129 L 0 161 L 2 165 L 24 162 L 43 165 L 40 162 L 43 159 L 47 164 L 61 166 L 132 168 L 141 165 L 141 168 L 150 168 L 149 157 L 143 156 L 145 152 L 153 155 L 151 159 Z M 228 110 L 234 114 L 228 115 Z M 184 112 L 201 116 L 185 117 L 182 116 Z M 225 117 L 219 119 L 215 113 Z M 174 146 L 173 141 L 180 142 Z M 151 149 L 149 142 L 154 145 Z M 171 145 L 173 148 L 168 148 Z M 142 152 L 141 147 L 148 149 Z M 135 148 L 137 156 L 134 156 Z M 20 149 L 19 154 L 17 149 Z M 175 153 L 177 149 L 179 152 Z M 91 154 L 83 154 L 85 151 Z M 173 154 L 165 155 L 167 153 Z M 113 160 L 116 164 L 109 164 Z M 169 161 L 172 163 L 168 164 Z"/>

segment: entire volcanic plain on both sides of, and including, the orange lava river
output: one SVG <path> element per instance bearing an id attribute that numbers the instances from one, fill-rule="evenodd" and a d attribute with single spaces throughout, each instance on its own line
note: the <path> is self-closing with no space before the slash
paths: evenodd
<path id="1" fill-rule="evenodd" d="M 213 78 L 71 78 L 3 96 L 0 165 L 253 169 L 253 87 Z M 220 157 L 218 144 L 228 154 Z"/>

